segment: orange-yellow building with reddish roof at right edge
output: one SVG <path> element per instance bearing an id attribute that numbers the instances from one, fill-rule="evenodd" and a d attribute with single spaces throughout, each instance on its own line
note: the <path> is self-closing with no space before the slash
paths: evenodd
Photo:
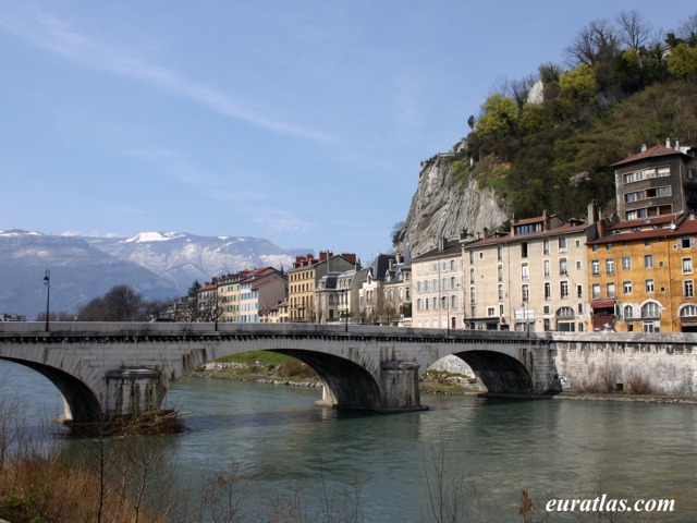
<path id="1" fill-rule="evenodd" d="M 588 242 L 589 328 L 696 332 L 694 215 L 622 221 Z"/>

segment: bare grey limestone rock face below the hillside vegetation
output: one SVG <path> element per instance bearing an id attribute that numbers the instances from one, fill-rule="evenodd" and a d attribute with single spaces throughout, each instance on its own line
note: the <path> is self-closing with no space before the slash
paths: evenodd
<path id="1" fill-rule="evenodd" d="M 463 186 L 451 179 L 452 160 L 452 155 L 442 154 L 424 166 L 396 252 L 408 246 L 411 255 L 418 256 L 437 247 L 440 238 L 456 239 L 463 229 L 481 233 L 485 227 L 494 229 L 509 219 L 492 190 L 479 188 L 475 180 Z"/>

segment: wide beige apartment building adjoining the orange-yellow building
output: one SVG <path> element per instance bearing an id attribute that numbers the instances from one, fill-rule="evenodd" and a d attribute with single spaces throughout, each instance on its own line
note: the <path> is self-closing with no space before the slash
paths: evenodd
<path id="1" fill-rule="evenodd" d="M 598 235 L 595 204 L 589 218 L 564 222 L 545 211 L 464 244 L 467 328 L 585 330 L 586 242 Z"/>

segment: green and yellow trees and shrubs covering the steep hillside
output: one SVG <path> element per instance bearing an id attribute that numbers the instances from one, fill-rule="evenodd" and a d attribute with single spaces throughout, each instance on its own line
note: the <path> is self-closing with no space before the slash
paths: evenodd
<path id="1" fill-rule="evenodd" d="M 543 209 L 583 217 L 596 199 L 614 209 L 612 163 L 641 144 L 697 145 L 697 13 L 659 34 L 640 13 L 584 27 L 566 63 L 499 81 L 454 146 L 454 183 L 474 178 L 515 219 Z"/>

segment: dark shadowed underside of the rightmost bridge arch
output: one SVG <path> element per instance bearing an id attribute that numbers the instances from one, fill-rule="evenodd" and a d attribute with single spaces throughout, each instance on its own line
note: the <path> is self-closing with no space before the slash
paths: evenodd
<path id="1" fill-rule="evenodd" d="M 465 351 L 453 355 L 472 367 L 487 391 L 494 394 L 530 394 L 533 377 L 516 357 L 494 351 Z"/>

